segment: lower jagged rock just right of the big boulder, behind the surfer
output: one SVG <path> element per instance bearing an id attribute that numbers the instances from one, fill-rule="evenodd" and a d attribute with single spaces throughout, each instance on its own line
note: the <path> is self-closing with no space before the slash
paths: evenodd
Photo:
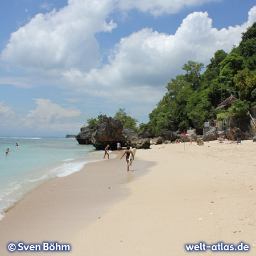
<path id="1" fill-rule="evenodd" d="M 125 137 L 125 143 L 123 146 L 136 147 L 137 149 L 150 148 L 150 139 L 142 138 L 142 136 L 138 135 L 130 128 L 123 129 L 122 135 Z"/>

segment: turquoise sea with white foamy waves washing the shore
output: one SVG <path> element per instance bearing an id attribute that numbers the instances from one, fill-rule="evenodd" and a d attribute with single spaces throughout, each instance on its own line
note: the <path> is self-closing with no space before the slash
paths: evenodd
<path id="1" fill-rule="evenodd" d="M 0 137 L 0 220 L 7 209 L 40 184 L 80 171 L 103 156 L 102 151 L 80 145 L 75 139 Z"/>

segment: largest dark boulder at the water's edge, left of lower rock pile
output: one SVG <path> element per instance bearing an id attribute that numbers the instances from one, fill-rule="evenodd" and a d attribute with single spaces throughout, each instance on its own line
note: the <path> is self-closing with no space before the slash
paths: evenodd
<path id="1" fill-rule="evenodd" d="M 120 119 L 105 117 L 96 126 L 93 134 L 90 138 L 90 142 L 96 148 L 96 150 L 104 150 L 109 144 L 112 150 L 117 149 L 117 143 L 126 141 L 126 138 L 122 135 L 123 123 Z"/>

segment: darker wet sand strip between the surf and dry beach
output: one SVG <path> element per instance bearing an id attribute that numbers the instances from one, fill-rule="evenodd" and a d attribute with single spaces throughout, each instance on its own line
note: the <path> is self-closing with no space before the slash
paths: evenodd
<path id="1" fill-rule="evenodd" d="M 8 254 L 6 245 L 11 241 L 68 243 L 77 230 L 97 220 L 107 205 L 129 196 L 126 184 L 146 173 L 147 164 L 138 160 L 137 169 L 131 168 L 132 177 L 127 176 L 121 154 L 112 151 L 109 160 L 90 162 L 69 176 L 49 180 L 7 210 L 0 221 L 0 254 Z"/>

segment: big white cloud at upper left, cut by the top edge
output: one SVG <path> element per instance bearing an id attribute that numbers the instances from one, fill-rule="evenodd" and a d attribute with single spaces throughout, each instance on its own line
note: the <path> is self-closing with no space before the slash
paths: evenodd
<path id="1" fill-rule="evenodd" d="M 88 70 L 100 65 L 95 34 L 111 32 L 116 24 L 106 17 L 112 0 L 69 1 L 60 11 L 37 14 L 11 34 L 3 61 L 32 72 L 57 72 L 73 66 Z"/>

